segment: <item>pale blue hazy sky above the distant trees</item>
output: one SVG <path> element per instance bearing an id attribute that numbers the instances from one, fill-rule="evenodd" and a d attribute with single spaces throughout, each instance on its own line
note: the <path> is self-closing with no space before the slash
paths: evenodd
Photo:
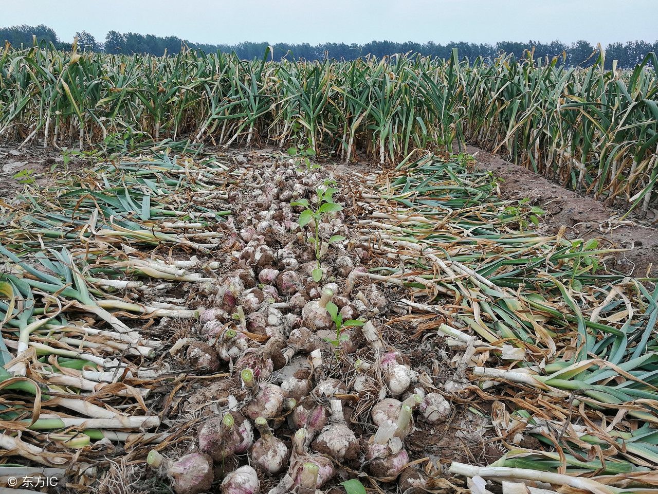
<path id="1" fill-rule="evenodd" d="M 4 0 L 0 26 L 46 24 L 63 41 L 87 30 L 199 43 L 658 39 L 658 0 Z"/>

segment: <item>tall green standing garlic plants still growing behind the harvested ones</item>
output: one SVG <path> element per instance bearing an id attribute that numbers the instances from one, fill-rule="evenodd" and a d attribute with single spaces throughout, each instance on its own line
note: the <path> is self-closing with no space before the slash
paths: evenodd
<path id="1" fill-rule="evenodd" d="M 512 56 L 241 61 L 78 53 L 0 58 L 0 137 L 45 147 L 190 137 L 381 164 L 472 141 L 563 184 L 646 209 L 658 180 L 658 59 L 588 70 Z"/>

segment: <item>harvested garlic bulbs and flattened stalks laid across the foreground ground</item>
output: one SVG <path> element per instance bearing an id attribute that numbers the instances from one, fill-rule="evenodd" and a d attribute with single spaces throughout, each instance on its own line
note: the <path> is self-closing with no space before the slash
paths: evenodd
<path id="1" fill-rule="evenodd" d="M 163 146 L 28 183 L 0 201 L 0 482 L 653 492 L 658 291 L 542 214 L 467 155 Z"/>

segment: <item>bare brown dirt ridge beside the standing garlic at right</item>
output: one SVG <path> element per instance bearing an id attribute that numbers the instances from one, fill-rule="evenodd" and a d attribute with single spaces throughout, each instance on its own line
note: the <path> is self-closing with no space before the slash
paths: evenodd
<path id="1" fill-rule="evenodd" d="M 554 234 L 565 226 L 569 238 L 606 239 L 611 247 L 629 249 L 617 255 L 615 266 L 610 267 L 634 276 L 645 276 L 647 272 L 658 274 L 658 229 L 632 220 L 620 221 L 617 218 L 622 213 L 618 210 L 478 147 L 468 145 L 467 153 L 474 155 L 478 168 L 501 179 L 499 186 L 503 197 L 517 200 L 528 197 L 532 204 L 546 210 L 542 227 L 547 233 Z"/>

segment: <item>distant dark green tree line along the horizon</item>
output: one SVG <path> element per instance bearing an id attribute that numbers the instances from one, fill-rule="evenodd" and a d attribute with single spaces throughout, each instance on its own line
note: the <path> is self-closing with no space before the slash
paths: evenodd
<path id="1" fill-rule="evenodd" d="M 52 28 L 40 24 L 39 26 L 11 26 L 0 28 L 0 40 L 9 41 L 14 47 L 27 47 L 33 43 L 33 36 L 39 43 L 53 43 L 57 49 L 70 49 L 71 43 L 61 41 Z M 222 51 L 224 53 L 235 52 L 238 57 L 245 60 L 263 57 L 269 46 L 274 48 L 275 58 L 322 60 L 345 59 L 354 60 L 365 55 L 384 57 L 393 53 L 420 53 L 430 57 L 447 59 L 453 48 L 457 48 L 459 57 L 474 59 L 481 56 L 484 58 L 496 57 L 499 53 L 513 53 L 522 57 L 526 51 L 532 53 L 534 59 L 551 60 L 557 57 L 560 62 L 569 65 L 590 66 L 597 59 L 595 52 L 597 48 L 588 41 L 580 40 L 574 43 L 563 43 L 562 41 L 551 41 L 541 43 L 540 41 L 527 41 L 520 43 L 515 41 L 500 41 L 499 43 L 467 43 L 465 41 L 451 42 L 445 45 L 429 41 L 428 43 L 415 43 L 406 41 L 397 43 L 395 41 L 370 41 L 363 45 L 357 43 L 322 43 L 311 45 L 309 43 L 276 43 L 245 41 L 236 45 L 210 45 L 203 43 L 192 43 L 187 39 L 177 36 L 153 36 L 152 34 L 120 33 L 110 31 L 105 36 L 105 41 L 99 42 L 94 36 L 86 31 L 76 33 L 78 48 L 82 51 L 105 51 L 105 53 L 148 53 L 150 55 L 162 56 L 176 54 L 182 49 L 201 50 L 206 53 Z M 611 66 L 613 60 L 617 60 L 617 66 L 631 68 L 642 62 L 642 59 L 650 52 L 658 53 L 658 41 L 648 43 L 647 41 L 628 41 L 626 43 L 609 43 L 605 47 L 606 65 Z M 594 55 L 593 55 L 594 54 Z"/>

